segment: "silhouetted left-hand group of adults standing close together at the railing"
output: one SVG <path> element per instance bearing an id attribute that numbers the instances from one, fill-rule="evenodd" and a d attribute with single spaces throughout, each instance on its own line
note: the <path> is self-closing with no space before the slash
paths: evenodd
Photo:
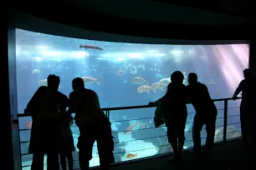
<path id="1" fill-rule="evenodd" d="M 33 153 L 31 169 L 43 170 L 44 155 L 47 154 L 47 168 L 58 170 L 59 153 L 62 168 L 66 169 L 65 158 L 69 160 L 69 169 L 73 168 L 72 112 L 75 112 L 75 122 L 80 130 L 78 148 L 81 170 L 89 169 L 95 141 L 100 155 L 100 168 L 108 169 L 113 162 L 114 143 L 110 121 L 100 109 L 97 94 L 86 89 L 83 79 L 79 77 L 72 82 L 74 91 L 69 98 L 58 92 L 59 77 L 49 75 L 47 82 L 48 87 L 39 87 L 25 109 L 25 113 L 33 119 L 28 149 L 28 153 Z"/>

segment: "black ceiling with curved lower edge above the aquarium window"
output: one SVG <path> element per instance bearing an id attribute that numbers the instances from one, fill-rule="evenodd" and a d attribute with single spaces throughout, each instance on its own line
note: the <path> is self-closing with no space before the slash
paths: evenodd
<path id="1" fill-rule="evenodd" d="M 18 11 L 38 18 L 100 32 L 141 37 L 202 39 L 206 38 L 205 34 L 195 32 L 207 31 L 215 34 L 224 33 L 226 37 L 223 38 L 229 39 L 234 35 L 233 29 L 236 29 L 239 30 L 236 38 L 248 39 L 246 35 L 248 30 L 250 28 L 252 30 L 255 26 L 255 18 L 251 15 L 252 7 L 249 2 L 248 0 L 178 0 L 177 2 L 172 0 L 44 0 L 43 2 L 14 0 L 10 5 Z M 167 33 L 170 30 L 172 35 Z M 214 38 L 218 37 L 214 36 Z"/>

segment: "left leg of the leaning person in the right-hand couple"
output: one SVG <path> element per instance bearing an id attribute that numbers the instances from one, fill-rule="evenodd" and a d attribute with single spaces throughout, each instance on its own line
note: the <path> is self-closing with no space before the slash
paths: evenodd
<path id="1" fill-rule="evenodd" d="M 201 154 L 201 130 L 202 130 L 203 122 L 200 117 L 197 115 L 194 117 L 193 128 L 192 128 L 192 138 L 194 143 L 194 153 L 196 155 Z"/>

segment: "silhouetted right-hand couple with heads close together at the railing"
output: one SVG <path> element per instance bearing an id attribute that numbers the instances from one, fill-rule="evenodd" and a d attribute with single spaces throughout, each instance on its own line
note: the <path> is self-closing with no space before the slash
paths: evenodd
<path id="1" fill-rule="evenodd" d="M 187 87 L 182 83 L 183 79 L 184 75 L 182 72 L 173 72 L 171 76 L 172 82 L 167 87 L 166 95 L 160 99 L 166 102 L 167 107 L 164 119 L 167 127 L 167 138 L 172 145 L 174 153 L 174 158 L 171 162 L 179 161 L 182 158 L 187 121 L 187 102 L 192 102 L 197 111 L 192 130 L 195 153 L 201 155 L 200 132 L 204 124 L 207 127 L 205 153 L 210 153 L 214 143 L 217 109 L 207 91 L 207 87 L 197 82 L 197 75 L 195 73 L 188 75 L 189 85 Z M 153 103 L 151 102 L 150 104 Z"/>

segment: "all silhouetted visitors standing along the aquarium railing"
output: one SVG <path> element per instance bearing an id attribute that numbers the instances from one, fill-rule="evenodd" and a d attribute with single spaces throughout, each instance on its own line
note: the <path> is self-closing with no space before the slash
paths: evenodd
<path id="1" fill-rule="evenodd" d="M 241 130 L 243 143 L 253 145 L 255 143 L 255 83 L 256 77 L 249 69 L 243 71 L 244 79 L 239 83 L 233 94 L 236 99 L 242 92 L 241 102 Z M 192 139 L 194 143 L 193 153 L 197 158 L 209 159 L 214 143 L 215 122 L 218 114 L 207 86 L 197 81 L 196 73 L 189 73 L 188 85 L 183 82 L 182 72 L 176 71 L 171 75 L 171 83 L 167 87 L 166 94 L 156 102 L 156 111 L 160 112 L 154 118 L 156 128 L 165 123 L 168 142 L 173 149 L 174 157 L 170 163 L 182 160 L 184 146 L 185 127 L 187 121 L 187 103 L 192 103 L 196 114 L 192 127 Z M 58 76 L 49 75 L 48 86 L 39 87 L 34 93 L 25 114 L 32 117 L 31 139 L 28 153 L 33 153 L 32 170 L 44 169 L 44 155 L 47 157 L 49 170 L 66 168 L 68 160 L 69 170 L 73 169 L 74 139 L 71 125 L 79 128 L 79 166 L 81 170 L 90 168 L 92 148 L 97 142 L 100 156 L 100 169 L 108 170 L 110 163 L 115 163 L 113 150 L 114 142 L 111 133 L 111 123 L 100 108 L 99 98 L 96 92 L 84 87 L 84 81 L 80 77 L 72 81 L 73 91 L 69 98 L 58 91 L 60 79 Z M 74 118 L 72 113 L 75 113 Z M 202 126 L 206 126 L 207 140 L 202 151 L 200 133 Z"/>

